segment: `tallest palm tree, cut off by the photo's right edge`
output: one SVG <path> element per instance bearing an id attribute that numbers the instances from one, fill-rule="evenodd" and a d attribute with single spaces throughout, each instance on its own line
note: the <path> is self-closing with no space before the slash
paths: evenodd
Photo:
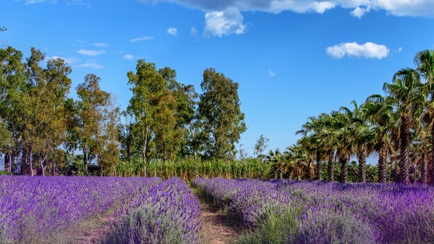
<path id="1" fill-rule="evenodd" d="M 431 126 L 431 160 L 427 168 L 431 168 L 430 175 L 434 183 L 434 51 L 420 51 L 415 56 L 415 64 L 417 71 L 422 74 L 425 79 L 424 93 L 430 99 L 426 103 L 424 120 L 427 126 Z"/>

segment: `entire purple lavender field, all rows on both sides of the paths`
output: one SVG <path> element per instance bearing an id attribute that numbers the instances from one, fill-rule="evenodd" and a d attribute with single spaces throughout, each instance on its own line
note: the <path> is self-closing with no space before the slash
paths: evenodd
<path id="1" fill-rule="evenodd" d="M 193 187 L 244 229 L 230 243 L 434 243 L 430 186 L 198 178 Z M 180 178 L 1 176 L 0 243 L 75 243 L 59 233 L 107 213 L 98 243 L 208 243 L 204 202 Z"/>

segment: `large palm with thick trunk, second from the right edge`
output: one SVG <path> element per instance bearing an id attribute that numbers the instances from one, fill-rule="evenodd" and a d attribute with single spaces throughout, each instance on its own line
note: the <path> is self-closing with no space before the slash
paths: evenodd
<path id="1" fill-rule="evenodd" d="M 423 104 L 424 94 L 421 93 L 420 76 L 414 69 L 401 69 L 393 76 L 393 83 L 385 83 L 383 89 L 393 98 L 393 103 L 399 114 L 399 180 L 409 184 L 409 146 L 411 143 L 410 126 L 412 119 L 417 117 Z"/>

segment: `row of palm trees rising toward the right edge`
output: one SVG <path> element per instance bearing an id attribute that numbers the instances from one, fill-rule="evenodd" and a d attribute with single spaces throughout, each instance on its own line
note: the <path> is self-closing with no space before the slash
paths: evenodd
<path id="1" fill-rule="evenodd" d="M 434 184 L 434 51 L 420 51 L 414 62 L 415 69 L 400 69 L 383 84 L 384 95 L 309 117 L 297 143 L 268 153 L 280 177 L 334 181 L 338 166 L 347 182 L 356 157 L 357 181 L 366 182 L 366 158 L 377 155 L 377 182 Z"/>

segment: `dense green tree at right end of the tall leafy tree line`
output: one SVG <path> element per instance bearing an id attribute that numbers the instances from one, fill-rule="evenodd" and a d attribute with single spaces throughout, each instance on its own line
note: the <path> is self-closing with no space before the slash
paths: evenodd
<path id="1" fill-rule="evenodd" d="M 238 83 L 226 78 L 215 69 L 205 69 L 200 84 L 199 113 L 204 119 L 207 134 L 207 157 L 217 159 L 234 158 L 235 143 L 245 132 L 244 114 L 240 109 Z"/>

